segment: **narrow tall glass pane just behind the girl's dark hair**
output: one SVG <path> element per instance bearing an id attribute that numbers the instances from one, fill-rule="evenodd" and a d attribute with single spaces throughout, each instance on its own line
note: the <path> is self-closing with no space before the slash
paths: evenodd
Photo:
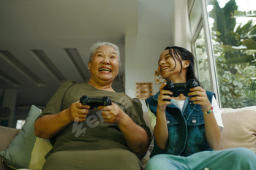
<path id="1" fill-rule="evenodd" d="M 208 70 L 208 56 L 206 55 L 206 40 L 203 28 L 197 36 L 194 44 L 197 78 L 202 83 L 205 90 L 211 90 L 211 83 Z"/>

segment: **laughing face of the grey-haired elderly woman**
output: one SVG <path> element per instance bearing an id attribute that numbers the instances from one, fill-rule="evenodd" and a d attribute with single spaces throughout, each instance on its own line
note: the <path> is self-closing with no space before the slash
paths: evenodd
<path id="1" fill-rule="evenodd" d="M 119 61 L 116 50 L 109 45 L 98 47 L 89 62 L 91 79 L 94 82 L 113 82 L 118 74 Z"/>

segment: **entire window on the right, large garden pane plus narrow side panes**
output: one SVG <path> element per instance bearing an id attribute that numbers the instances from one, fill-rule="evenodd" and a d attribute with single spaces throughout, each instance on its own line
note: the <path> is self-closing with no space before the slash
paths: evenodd
<path id="1" fill-rule="evenodd" d="M 197 31 L 192 32 L 192 53 L 200 82 L 217 93 L 221 107 L 256 105 L 255 0 L 199 1 L 203 15 L 201 26 L 197 24 Z M 214 84 L 216 88 L 210 87 Z"/>

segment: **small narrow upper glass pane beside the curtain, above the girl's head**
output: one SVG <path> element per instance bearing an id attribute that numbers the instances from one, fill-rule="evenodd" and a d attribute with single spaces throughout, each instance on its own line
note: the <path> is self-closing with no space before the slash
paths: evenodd
<path id="1" fill-rule="evenodd" d="M 190 28 L 192 33 L 195 31 L 195 28 L 197 28 L 197 24 L 201 18 L 201 11 L 200 1 L 195 0 L 189 14 Z"/>

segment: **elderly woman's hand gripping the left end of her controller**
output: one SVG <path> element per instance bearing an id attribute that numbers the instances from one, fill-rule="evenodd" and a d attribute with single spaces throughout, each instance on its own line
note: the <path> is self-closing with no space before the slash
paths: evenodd
<path id="1" fill-rule="evenodd" d="M 70 122 L 82 122 L 86 120 L 86 117 L 89 114 L 89 108 L 89 105 L 83 105 L 79 101 L 72 103 L 67 109 L 67 117 Z"/>

